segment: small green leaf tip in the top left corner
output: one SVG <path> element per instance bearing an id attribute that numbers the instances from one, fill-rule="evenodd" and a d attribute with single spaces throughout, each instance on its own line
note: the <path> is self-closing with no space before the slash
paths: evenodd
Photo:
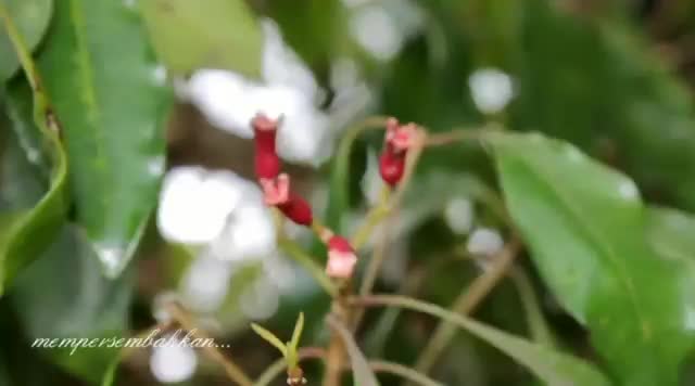
<path id="1" fill-rule="evenodd" d="M 41 41 L 51 21 L 53 0 L 0 0 L 23 37 L 27 51 Z M 4 25 L 0 20 L 0 82 L 11 78 L 20 68 L 20 61 Z"/>

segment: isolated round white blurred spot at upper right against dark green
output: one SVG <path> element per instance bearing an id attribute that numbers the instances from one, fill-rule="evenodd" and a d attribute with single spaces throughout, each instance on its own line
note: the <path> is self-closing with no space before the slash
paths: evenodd
<path id="1" fill-rule="evenodd" d="M 481 112 L 501 112 L 514 97 L 511 78 L 497 68 L 479 68 L 468 78 L 473 103 Z"/>

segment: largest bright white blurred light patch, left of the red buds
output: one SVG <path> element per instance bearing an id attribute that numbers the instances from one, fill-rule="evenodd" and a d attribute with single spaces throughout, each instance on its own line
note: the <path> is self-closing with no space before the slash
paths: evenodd
<path id="1" fill-rule="evenodd" d="M 208 243 L 220 234 L 229 214 L 254 190 L 257 188 L 251 181 L 230 171 L 174 168 L 166 173 L 160 194 L 160 233 L 173 242 Z"/>

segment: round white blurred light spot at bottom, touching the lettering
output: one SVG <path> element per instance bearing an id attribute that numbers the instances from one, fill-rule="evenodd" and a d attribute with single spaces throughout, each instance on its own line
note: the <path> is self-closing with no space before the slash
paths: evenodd
<path id="1" fill-rule="evenodd" d="M 174 344 L 152 349 L 150 370 L 161 383 L 187 381 L 193 376 L 195 368 L 198 368 L 198 357 L 190 346 Z"/>

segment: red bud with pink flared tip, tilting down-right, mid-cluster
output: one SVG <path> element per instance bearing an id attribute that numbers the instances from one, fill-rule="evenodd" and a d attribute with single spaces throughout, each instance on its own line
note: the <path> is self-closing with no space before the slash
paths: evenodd
<path id="1" fill-rule="evenodd" d="M 282 214 L 300 226 L 311 226 L 314 221 L 312 207 L 299 194 L 290 191 L 290 177 L 286 173 L 276 179 L 261 179 L 266 205 L 277 207 Z"/>

